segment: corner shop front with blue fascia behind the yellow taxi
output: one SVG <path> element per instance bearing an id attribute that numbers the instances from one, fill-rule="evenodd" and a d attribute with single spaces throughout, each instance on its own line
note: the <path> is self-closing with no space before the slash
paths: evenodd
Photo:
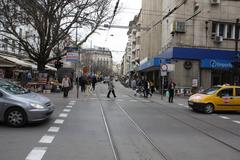
<path id="1" fill-rule="evenodd" d="M 171 48 L 159 57 L 170 59 L 169 63 L 175 65 L 175 70 L 168 73 L 168 81 L 174 80 L 180 90 L 239 84 L 239 73 L 232 65 L 236 61 L 235 51 Z"/>

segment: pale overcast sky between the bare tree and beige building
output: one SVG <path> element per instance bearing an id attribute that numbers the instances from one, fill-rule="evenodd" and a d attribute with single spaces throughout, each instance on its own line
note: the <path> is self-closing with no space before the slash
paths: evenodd
<path id="1" fill-rule="evenodd" d="M 142 0 L 120 0 L 120 13 L 115 17 L 113 25 L 128 26 L 141 8 Z M 85 45 L 90 47 L 107 47 L 112 51 L 113 61 L 121 62 L 127 44 L 128 29 L 111 28 L 106 31 L 98 30 Z"/>

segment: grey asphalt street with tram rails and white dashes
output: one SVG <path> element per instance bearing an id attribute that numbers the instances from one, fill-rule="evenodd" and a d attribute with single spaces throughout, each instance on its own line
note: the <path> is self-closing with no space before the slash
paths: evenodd
<path id="1" fill-rule="evenodd" d="M 239 160 L 240 113 L 191 111 L 187 98 L 143 98 L 98 83 L 86 96 L 44 94 L 51 118 L 23 128 L 0 124 L 0 160 Z"/>

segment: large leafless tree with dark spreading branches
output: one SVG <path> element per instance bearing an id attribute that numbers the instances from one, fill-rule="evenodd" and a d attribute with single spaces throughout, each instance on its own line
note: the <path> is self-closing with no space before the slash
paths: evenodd
<path id="1" fill-rule="evenodd" d="M 115 0 L 116 1 L 116 0 Z M 63 54 L 51 57 L 57 44 L 68 37 L 75 26 L 84 29 L 81 46 L 103 23 L 112 21 L 114 0 L 0 0 L 0 35 L 16 42 L 38 65 L 45 64 Z M 113 11 L 114 10 L 114 11 Z M 113 11 L 113 12 L 112 12 Z M 29 28 L 23 36 L 20 26 Z"/>

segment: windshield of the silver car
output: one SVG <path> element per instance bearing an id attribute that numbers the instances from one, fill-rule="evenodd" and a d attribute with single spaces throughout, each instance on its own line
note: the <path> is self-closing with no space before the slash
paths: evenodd
<path id="1" fill-rule="evenodd" d="M 22 87 L 19 87 L 19 86 L 10 84 L 10 83 L 9 84 L 7 84 L 7 83 L 0 84 L 0 88 L 11 94 L 26 94 L 26 93 L 30 92 L 29 90 L 27 90 L 25 88 L 22 88 Z"/>

